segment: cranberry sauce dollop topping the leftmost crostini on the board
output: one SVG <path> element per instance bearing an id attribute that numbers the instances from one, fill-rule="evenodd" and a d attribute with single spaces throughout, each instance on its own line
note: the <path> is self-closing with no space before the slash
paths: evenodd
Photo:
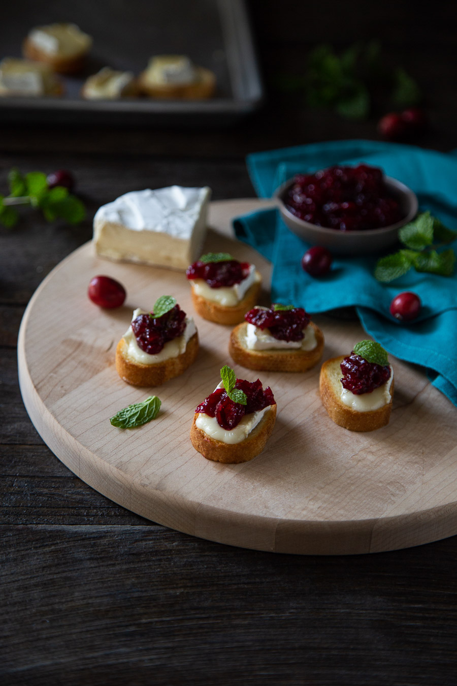
<path id="1" fill-rule="evenodd" d="M 177 338 L 186 329 L 186 313 L 175 305 L 161 317 L 153 313 L 140 314 L 132 322 L 138 348 L 149 355 L 160 353 L 165 343 Z"/>

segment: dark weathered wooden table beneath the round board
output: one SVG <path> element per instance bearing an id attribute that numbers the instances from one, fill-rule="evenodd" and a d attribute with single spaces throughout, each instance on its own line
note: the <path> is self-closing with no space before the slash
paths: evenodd
<path id="1" fill-rule="evenodd" d="M 269 102 L 227 130 L 3 125 L 12 166 L 72 169 L 81 226 L 28 216 L 0 229 L 0 683 L 455 685 L 457 536 L 356 557 L 275 555 L 191 538 L 86 486 L 42 442 L 21 401 L 16 337 L 40 281 L 90 239 L 100 204 L 144 187 L 210 185 L 254 196 L 245 154 L 328 139 L 378 139 L 275 88 L 314 43 L 380 37 L 421 83 L 430 131 L 457 147 L 453 4 L 249 3 Z M 38 346 L 42 345 L 37 341 Z"/>

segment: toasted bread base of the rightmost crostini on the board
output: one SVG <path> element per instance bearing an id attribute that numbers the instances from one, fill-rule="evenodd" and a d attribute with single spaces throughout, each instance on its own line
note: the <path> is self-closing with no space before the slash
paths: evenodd
<path id="1" fill-rule="evenodd" d="M 341 357 L 333 357 L 324 362 L 321 368 L 319 388 L 321 391 L 322 404 L 327 410 L 330 418 L 338 426 L 349 429 L 349 431 L 374 431 L 388 424 L 392 410 L 393 399 L 393 379 L 389 392 L 391 401 L 383 405 L 378 410 L 368 412 L 358 412 L 353 407 L 348 407 L 341 401 Z"/>

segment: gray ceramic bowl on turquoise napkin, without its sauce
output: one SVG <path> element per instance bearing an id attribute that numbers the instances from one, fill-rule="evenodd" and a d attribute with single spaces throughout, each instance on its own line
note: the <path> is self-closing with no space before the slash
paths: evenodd
<path id="1" fill-rule="evenodd" d="M 394 198 L 397 198 L 404 213 L 404 219 L 391 226 L 371 228 L 364 231 L 340 231 L 325 226 L 316 226 L 295 217 L 284 204 L 282 198 L 288 187 L 293 184 L 289 179 L 276 189 L 274 197 L 282 219 L 288 228 L 314 246 L 324 246 L 331 252 L 340 255 L 367 255 L 369 252 L 381 252 L 397 242 L 398 230 L 408 224 L 417 215 L 418 202 L 413 191 L 401 181 L 384 176 L 384 182 Z"/>

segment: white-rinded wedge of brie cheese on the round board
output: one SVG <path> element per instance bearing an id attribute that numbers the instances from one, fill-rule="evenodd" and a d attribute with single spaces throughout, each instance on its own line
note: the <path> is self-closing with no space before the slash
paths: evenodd
<path id="1" fill-rule="evenodd" d="M 211 189 L 132 191 L 94 217 L 97 255 L 185 270 L 201 252 Z"/>

